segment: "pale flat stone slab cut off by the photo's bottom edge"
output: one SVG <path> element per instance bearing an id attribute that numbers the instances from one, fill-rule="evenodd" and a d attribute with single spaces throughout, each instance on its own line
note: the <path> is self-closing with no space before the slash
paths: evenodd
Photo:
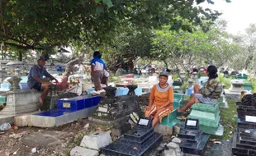
<path id="1" fill-rule="evenodd" d="M 76 146 L 70 151 L 70 156 L 97 156 L 98 151 Z"/>

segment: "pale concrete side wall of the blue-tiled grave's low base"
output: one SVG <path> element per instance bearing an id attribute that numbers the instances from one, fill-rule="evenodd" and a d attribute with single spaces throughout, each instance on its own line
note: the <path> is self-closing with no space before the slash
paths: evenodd
<path id="1" fill-rule="evenodd" d="M 31 124 L 30 126 L 38 126 L 38 127 L 53 127 L 53 126 L 61 126 L 70 122 L 74 122 L 78 120 L 78 118 L 90 117 L 93 112 L 95 112 L 97 106 L 92 108 L 82 109 L 76 112 L 64 113 L 59 117 L 47 117 L 40 115 L 31 115 Z"/>

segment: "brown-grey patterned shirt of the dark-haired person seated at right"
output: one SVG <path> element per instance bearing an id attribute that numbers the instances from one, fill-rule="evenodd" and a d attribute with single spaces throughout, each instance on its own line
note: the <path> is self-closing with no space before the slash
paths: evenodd
<path id="1" fill-rule="evenodd" d="M 218 78 L 208 79 L 206 84 L 202 88 L 201 94 L 206 98 L 220 99 L 220 94 L 222 92 L 222 84 Z"/>

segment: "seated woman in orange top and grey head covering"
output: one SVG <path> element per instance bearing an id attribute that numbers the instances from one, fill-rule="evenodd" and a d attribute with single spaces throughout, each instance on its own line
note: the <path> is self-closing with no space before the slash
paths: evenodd
<path id="1" fill-rule="evenodd" d="M 159 84 L 153 86 L 149 106 L 145 109 L 145 117 L 153 117 L 153 127 L 173 111 L 173 96 L 173 88 L 168 84 L 168 72 L 162 71 L 159 75 Z"/>

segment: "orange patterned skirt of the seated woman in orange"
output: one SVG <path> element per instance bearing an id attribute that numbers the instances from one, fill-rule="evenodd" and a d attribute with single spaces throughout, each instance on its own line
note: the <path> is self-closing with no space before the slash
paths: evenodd
<path id="1" fill-rule="evenodd" d="M 155 115 L 158 115 L 159 122 L 161 123 L 163 117 L 168 116 L 168 114 L 173 111 L 173 104 L 166 108 L 160 108 L 159 110 L 158 109 L 159 106 L 153 104 L 149 111 L 146 111 L 145 113 L 147 113 L 149 117 L 154 117 Z"/>

